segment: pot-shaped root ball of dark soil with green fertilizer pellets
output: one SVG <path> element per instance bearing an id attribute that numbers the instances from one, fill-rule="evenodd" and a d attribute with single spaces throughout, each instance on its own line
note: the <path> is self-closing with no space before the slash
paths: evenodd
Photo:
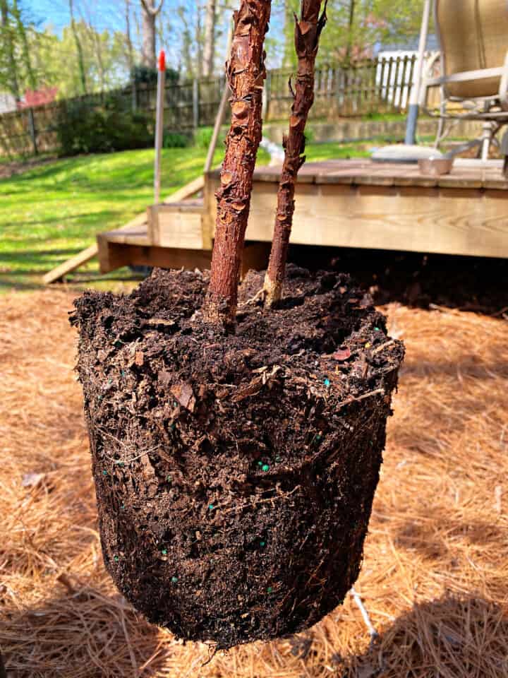
<path id="1" fill-rule="evenodd" d="M 274 311 L 155 270 L 75 302 L 102 549 L 155 624 L 219 648 L 315 624 L 356 581 L 404 347 L 347 275 L 290 266 Z"/>

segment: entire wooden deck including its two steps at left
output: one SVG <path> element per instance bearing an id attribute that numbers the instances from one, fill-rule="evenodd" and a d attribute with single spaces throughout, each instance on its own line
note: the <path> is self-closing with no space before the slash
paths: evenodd
<path id="1" fill-rule="evenodd" d="M 271 242 L 278 181 L 277 167 L 255 172 L 248 242 Z M 99 234 L 101 269 L 209 266 L 218 186 L 219 172 L 210 172 L 202 198 L 163 203 L 149 208 L 145 224 Z M 500 161 L 456 160 L 442 177 L 370 160 L 309 162 L 298 177 L 291 242 L 508 257 L 507 191 Z M 257 254 L 246 254 L 246 264 L 262 266 L 267 246 L 250 251 Z"/>

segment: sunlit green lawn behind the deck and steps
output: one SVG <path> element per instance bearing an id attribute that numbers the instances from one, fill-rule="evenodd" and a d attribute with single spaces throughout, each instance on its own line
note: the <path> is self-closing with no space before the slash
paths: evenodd
<path id="1" fill-rule="evenodd" d="M 309 144 L 308 160 L 368 155 L 363 145 Z M 205 150 L 171 148 L 162 154 L 162 196 L 198 177 Z M 219 163 L 222 148 L 214 158 Z M 40 287 L 41 276 L 90 245 L 99 231 L 119 227 L 152 201 L 153 151 L 133 150 L 55 160 L 0 179 L 0 292 Z M 258 162 L 267 162 L 260 151 Z M 81 269 L 83 271 L 83 269 Z M 125 269 L 99 276 L 91 262 L 75 280 L 111 287 L 131 277 Z"/>

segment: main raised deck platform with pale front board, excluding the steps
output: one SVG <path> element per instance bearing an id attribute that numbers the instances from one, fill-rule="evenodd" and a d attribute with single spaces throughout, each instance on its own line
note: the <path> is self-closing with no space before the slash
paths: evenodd
<path id="1" fill-rule="evenodd" d="M 255 171 L 247 239 L 272 239 L 279 173 Z M 218 185 L 214 172 L 205 186 L 210 237 Z M 459 159 L 441 177 L 363 158 L 308 162 L 298 175 L 291 242 L 508 257 L 507 189 L 502 161 Z"/>

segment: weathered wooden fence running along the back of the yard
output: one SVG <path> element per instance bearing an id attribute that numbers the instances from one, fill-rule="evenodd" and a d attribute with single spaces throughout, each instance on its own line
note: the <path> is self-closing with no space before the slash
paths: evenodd
<path id="1" fill-rule="evenodd" d="M 315 104 L 311 119 L 334 121 L 342 117 L 361 117 L 373 113 L 404 112 L 409 101 L 416 57 L 369 59 L 345 69 L 339 64 L 316 70 Z M 286 120 L 292 95 L 289 81 L 294 71 L 269 71 L 265 83 L 265 121 Z M 166 88 L 164 125 L 173 131 L 191 132 L 198 126 L 214 123 L 224 76 L 169 84 Z M 74 100 L 0 115 L 0 154 L 32 155 L 59 149 L 56 129 L 65 121 L 67 105 L 81 101 L 90 109 L 100 108 L 114 94 L 126 106 L 155 115 L 156 89 L 138 86 L 114 93 L 85 95 Z"/>

